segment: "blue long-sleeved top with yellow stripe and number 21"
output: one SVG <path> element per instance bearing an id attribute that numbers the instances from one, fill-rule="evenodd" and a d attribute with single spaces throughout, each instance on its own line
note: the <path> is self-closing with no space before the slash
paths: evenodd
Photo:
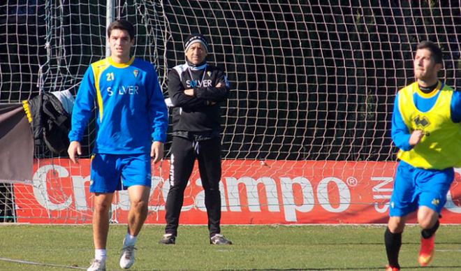
<path id="1" fill-rule="evenodd" d="M 96 102 L 94 153 L 150 153 L 152 140 L 166 141 L 168 110 L 154 66 L 110 57 L 88 67 L 72 112 L 69 140 L 81 141 Z"/>

